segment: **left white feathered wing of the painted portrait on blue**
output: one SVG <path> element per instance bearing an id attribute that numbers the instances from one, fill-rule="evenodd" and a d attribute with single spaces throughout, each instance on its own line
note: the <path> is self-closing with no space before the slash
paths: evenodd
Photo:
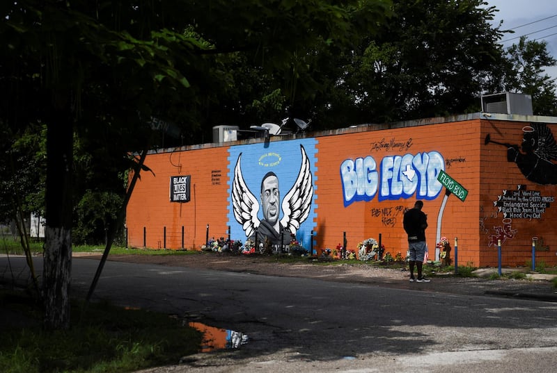
<path id="1" fill-rule="evenodd" d="M 234 180 L 232 182 L 232 205 L 234 208 L 234 217 L 236 221 L 242 224 L 242 229 L 246 233 L 246 237 L 251 237 L 256 233 L 259 226 L 259 202 L 256 196 L 249 190 L 242 169 L 240 168 L 240 160 L 242 154 L 238 156 L 236 166 L 234 167 Z"/>

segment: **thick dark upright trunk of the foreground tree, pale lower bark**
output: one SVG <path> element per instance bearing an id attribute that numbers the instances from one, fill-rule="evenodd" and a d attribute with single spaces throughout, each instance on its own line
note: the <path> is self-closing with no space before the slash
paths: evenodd
<path id="1" fill-rule="evenodd" d="M 47 124 L 45 264 L 42 272 L 46 329 L 68 329 L 70 326 L 72 156 L 70 110 L 54 110 Z"/>

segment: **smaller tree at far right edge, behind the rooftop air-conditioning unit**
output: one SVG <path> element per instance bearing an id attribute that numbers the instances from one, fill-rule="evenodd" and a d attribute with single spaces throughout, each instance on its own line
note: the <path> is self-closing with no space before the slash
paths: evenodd
<path id="1" fill-rule="evenodd" d="M 530 94 L 535 115 L 557 116 L 556 79 L 544 72 L 544 67 L 557 65 L 547 51 L 547 42 L 527 40 L 506 49 L 508 58 L 503 76 L 503 90 Z"/>

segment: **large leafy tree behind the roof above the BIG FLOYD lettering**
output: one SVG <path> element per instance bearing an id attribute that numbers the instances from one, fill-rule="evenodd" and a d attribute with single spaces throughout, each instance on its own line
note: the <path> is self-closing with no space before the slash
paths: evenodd
<path id="1" fill-rule="evenodd" d="M 382 13 L 389 17 L 382 18 L 370 4 L 354 7 L 347 13 L 352 33 L 345 35 L 350 36 L 313 40 L 292 55 L 289 70 L 269 72 L 249 63 L 233 67 L 246 83 L 230 107 L 243 103 L 242 115 L 219 108 L 210 112 L 249 124 L 257 115 L 265 122 L 288 113 L 313 119 L 312 129 L 320 130 L 478 111 L 480 94 L 496 92 L 505 61 L 499 44 L 503 31 L 489 23 L 496 9 L 485 5 L 394 0 Z M 267 93 L 263 99 L 257 99 L 260 90 Z M 250 109 L 261 108 L 251 103 L 268 105 L 250 115 Z"/>

